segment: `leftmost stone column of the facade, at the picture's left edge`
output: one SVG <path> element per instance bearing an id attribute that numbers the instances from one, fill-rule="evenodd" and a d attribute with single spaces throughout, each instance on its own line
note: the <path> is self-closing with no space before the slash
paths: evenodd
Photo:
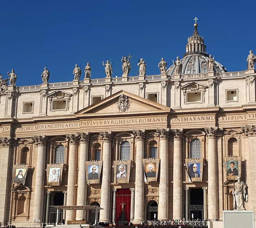
<path id="1" fill-rule="evenodd" d="M 9 220 L 9 210 L 11 201 L 11 184 L 12 179 L 12 159 L 11 155 L 14 152 L 11 144 L 12 138 L 0 138 L 0 221 L 5 225 Z"/>

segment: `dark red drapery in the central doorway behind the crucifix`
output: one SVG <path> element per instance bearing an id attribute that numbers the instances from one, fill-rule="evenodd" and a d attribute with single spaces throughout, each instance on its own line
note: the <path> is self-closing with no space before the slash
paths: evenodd
<path id="1" fill-rule="evenodd" d="M 122 204 L 124 204 L 124 214 L 127 217 L 128 223 L 130 222 L 130 198 L 131 198 L 131 191 L 129 188 L 117 189 L 116 223 L 118 223 L 122 215 Z"/>

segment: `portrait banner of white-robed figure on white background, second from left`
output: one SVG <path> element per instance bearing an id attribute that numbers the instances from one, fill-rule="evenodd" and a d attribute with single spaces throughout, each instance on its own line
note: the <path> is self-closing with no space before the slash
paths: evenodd
<path id="1" fill-rule="evenodd" d="M 64 164 L 47 165 L 47 183 L 49 186 L 60 186 Z"/>

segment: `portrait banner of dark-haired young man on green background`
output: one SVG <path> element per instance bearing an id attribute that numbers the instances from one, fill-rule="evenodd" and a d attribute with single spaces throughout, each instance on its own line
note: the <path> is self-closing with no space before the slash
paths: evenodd
<path id="1" fill-rule="evenodd" d="M 223 157 L 223 165 L 226 172 L 227 180 L 237 180 L 241 178 L 241 156 L 226 156 Z"/>

